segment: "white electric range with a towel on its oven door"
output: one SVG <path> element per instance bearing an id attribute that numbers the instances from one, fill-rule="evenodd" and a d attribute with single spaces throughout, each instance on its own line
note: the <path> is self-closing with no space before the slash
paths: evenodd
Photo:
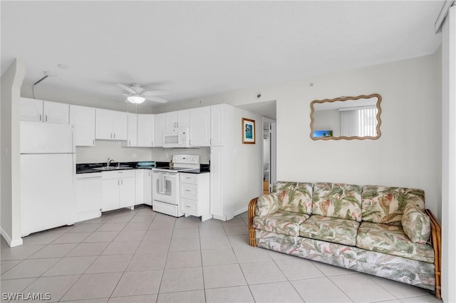
<path id="1" fill-rule="evenodd" d="M 179 205 L 179 173 L 194 169 L 199 169 L 199 155 L 194 154 L 175 154 L 172 166 L 152 169 L 152 209 L 170 216 L 184 216 Z"/>

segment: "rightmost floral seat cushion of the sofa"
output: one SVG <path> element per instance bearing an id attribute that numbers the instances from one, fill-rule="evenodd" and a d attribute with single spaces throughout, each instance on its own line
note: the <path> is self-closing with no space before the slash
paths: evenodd
<path id="1" fill-rule="evenodd" d="M 432 246 L 413 243 L 400 226 L 363 222 L 358 228 L 356 246 L 412 260 L 434 262 Z"/>

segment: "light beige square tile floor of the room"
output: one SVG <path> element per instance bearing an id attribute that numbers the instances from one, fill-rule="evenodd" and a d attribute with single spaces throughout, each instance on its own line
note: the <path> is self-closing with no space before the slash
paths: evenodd
<path id="1" fill-rule="evenodd" d="M 1 293 L 49 302 L 441 302 L 424 289 L 248 245 L 247 213 L 227 222 L 148 206 L 1 239 Z M 30 300 L 29 300 L 30 301 Z"/>

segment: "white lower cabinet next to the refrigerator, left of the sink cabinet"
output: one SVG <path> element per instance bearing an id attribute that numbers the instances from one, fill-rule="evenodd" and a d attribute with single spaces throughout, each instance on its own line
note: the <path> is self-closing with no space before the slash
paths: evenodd
<path id="1" fill-rule="evenodd" d="M 76 221 L 101 216 L 103 185 L 101 173 L 76 174 Z"/>

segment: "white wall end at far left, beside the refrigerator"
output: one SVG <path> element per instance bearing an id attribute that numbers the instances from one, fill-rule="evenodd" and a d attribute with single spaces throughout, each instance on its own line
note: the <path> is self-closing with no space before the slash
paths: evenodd
<path id="1" fill-rule="evenodd" d="M 16 59 L 1 75 L 1 235 L 11 246 L 21 245 L 19 100 L 26 73 L 24 60 Z"/>

